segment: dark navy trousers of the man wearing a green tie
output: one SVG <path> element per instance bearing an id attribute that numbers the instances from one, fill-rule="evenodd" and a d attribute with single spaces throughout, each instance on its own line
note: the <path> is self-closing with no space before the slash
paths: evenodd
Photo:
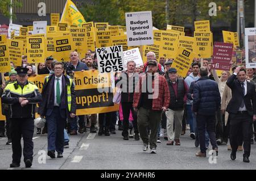
<path id="1" fill-rule="evenodd" d="M 46 116 L 48 124 L 48 150 L 63 153 L 64 128 L 66 119 L 61 117 L 59 107 L 54 107 L 50 116 Z"/>

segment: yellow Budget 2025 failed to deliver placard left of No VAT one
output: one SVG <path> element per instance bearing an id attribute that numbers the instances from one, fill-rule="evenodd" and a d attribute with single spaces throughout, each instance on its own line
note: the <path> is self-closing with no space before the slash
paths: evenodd
<path id="1" fill-rule="evenodd" d="M 27 37 L 27 62 L 39 64 L 45 60 L 45 39 L 44 37 Z"/>

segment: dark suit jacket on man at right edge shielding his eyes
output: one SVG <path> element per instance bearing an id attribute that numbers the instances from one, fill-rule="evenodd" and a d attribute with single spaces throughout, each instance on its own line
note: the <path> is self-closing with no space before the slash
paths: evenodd
<path id="1" fill-rule="evenodd" d="M 230 100 L 226 111 L 229 113 L 237 113 L 239 110 L 242 99 L 245 103 L 246 110 L 249 115 L 256 115 L 256 102 L 255 102 L 255 86 L 251 82 L 247 82 L 247 94 L 243 96 L 243 90 L 240 82 L 236 79 L 237 75 L 233 74 L 226 81 L 226 85 L 232 90 L 232 99 Z"/>

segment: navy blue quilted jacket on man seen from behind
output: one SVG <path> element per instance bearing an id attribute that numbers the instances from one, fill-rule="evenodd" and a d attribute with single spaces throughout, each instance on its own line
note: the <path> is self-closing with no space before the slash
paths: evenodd
<path id="1" fill-rule="evenodd" d="M 193 87 L 193 112 L 215 115 L 220 104 L 221 96 L 217 82 L 207 76 L 201 77 Z"/>

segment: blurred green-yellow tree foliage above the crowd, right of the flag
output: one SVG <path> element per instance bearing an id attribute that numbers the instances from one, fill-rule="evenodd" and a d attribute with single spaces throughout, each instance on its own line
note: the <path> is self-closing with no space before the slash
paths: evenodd
<path id="1" fill-rule="evenodd" d="M 125 12 L 152 11 L 153 26 L 160 30 L 166 29 L 166 15 L 168 24 L 176 26 L 193 26 L 195 20 L 208 19 L 212 23 L 230 24 L 236 18 L 236 0 L 215 0 L 217 16 L 209 16 L 210 2 L 212 0 L 96 0 L 82 7 L 81 12 L 88 22 L 109 22 L 125 26 Z"/>

